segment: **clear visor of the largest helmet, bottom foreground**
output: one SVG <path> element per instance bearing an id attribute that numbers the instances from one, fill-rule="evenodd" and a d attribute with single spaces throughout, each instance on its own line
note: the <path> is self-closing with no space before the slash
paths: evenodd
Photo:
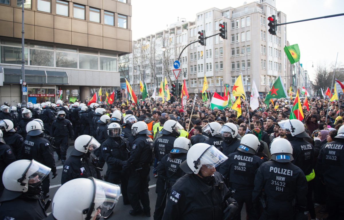
<path id="1" fill-rule="evenodd" d="M 90 178 L 94 181 L 94 209 L 99 212 L 98 217 L 107 218 L 114 210 L 121 194 L 120 187 L 115 184 Z"/>

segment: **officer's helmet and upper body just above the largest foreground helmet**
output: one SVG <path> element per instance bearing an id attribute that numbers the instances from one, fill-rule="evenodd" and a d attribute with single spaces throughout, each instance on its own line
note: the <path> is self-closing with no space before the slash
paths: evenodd
<path id="1" fill-rule="evenodd" d="M 94 177 L 101 180 L 98 159 L 92 151 L 100 146 L 97 140 L 89 135 L 80 135 L 75 139 L 71 156 L 63 165 L 61 184 L 76 178 Z"/>

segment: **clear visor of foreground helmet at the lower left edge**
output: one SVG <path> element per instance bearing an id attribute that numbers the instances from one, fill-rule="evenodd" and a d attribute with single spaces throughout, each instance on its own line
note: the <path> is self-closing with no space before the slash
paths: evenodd
<path id="1" fill-rule="evenodd" d="M 26 168 L 22 175 L 22 178 L 18 182 L 23 183 L 24 180 L 28 179 L 29 185 L 38 185 L 47 175 L 49 175 L 51 168 L 44 166 L 35 160 L 31 160 L 29 167 Z M 25 181 L 26 183 L 26 181 Z"/>

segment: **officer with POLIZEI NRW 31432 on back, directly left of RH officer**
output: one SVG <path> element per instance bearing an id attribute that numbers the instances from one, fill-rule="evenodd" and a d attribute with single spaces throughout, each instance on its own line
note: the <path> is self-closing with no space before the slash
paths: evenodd
<path id="1" fill-rule="evenodd" d="M 255 135 L 245 134 L 241 138 L 238 151 L 229 154 L 228 160 L 220 168 L 219 172 L 228 181 L 228 186 L 236 190 L 233 198 L 237 201 L 239 209 L 233 217 L 234 220 L 241 219 L 240 212 L 244 203 L 246 203 L 248 219 L 258 220 L 259 218 L 252 203 L 255 171 L 264 162 L 255 155 L 259 145 L 259 140 Z"/>

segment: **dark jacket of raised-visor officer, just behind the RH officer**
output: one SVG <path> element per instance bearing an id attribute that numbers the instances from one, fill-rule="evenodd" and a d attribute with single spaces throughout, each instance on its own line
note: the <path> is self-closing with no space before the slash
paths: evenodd
<path id="1" fill-rule="evenodd" d="M 299 137 L 288 136 L 290 144 L 293 146 L 293 164 L 300 167 L 305 175 L 313 170 L 314 147 L 309 142 Z"/>

